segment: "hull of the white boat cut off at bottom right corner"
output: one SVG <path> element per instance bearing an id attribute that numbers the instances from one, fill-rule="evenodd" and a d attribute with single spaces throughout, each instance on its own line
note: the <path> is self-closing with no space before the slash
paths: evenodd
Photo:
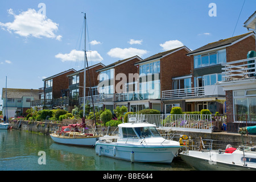
<path id="1" fill-rule="evenodd" d="M 203 153 L 201 153 L 201 154 L 203 154 Z M 205 153 L 207 153 L 207 152 L 205 152 Z M 204 158 L 203 157 L 204 154 L 200 155 L 201 157 L 196 157 L 196 156 L 186 154 L 185 152 L 181 152 L 179 155 L 182 160 L 184 160 L 186 163 L 188 163 L 193 168 L 200 170 L 200 171 L 243 171 L 243 170 L 255 171 L 256 170 L 255 167 L 243 166 L 242 164 L 238 165 L 234 162 L 228 163 L 228 162 L 224 162 L 224 161 L 221 162 L 220 160 L 210 160 L 210 159 Z M 210 155 L 210 154 L 207 154 L 207 155 Z M 227 155 L 231 155 L 231 154 L 227 154 Z M 225 157 L 227 158 L 228 157 L 227 155 L 226 156 L 223 155 L 224 158 Z M 218 156 L 215 156 L 215 158 L 218 158 Z"/>

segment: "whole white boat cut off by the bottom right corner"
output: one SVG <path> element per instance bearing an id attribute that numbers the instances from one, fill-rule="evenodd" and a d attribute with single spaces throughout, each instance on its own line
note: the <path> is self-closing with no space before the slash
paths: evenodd
<path id="1" fill-rule="evenodd" d="M 256 148 L 240 146 L 234 152 L 221 150 L 188 150 L 180 157 L 200 171 L 242 171 L 256 170 Z"/>

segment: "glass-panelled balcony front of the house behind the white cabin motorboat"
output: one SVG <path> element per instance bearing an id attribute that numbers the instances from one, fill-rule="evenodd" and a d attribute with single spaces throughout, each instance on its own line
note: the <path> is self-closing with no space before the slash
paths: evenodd
<path id="1" fill-rule="evenodd" d="M 151 90 L 151 91 L 152 93 L 143 92 L 143 91 L 116 93 L 115 102 L 160 99 L 159 90 Z"/>

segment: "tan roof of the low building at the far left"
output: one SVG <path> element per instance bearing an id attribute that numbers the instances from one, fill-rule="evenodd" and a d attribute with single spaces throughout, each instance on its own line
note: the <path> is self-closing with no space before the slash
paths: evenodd
<path id="1" fill-rule="evenodd" d="M 10 89 L 7 88 L 7 98 L 22 98 L 24 96 L 31 96 L 39 98 L 39 89 Z M 6 88 L 2 90 L 2 99 L 6 98 Z"/>

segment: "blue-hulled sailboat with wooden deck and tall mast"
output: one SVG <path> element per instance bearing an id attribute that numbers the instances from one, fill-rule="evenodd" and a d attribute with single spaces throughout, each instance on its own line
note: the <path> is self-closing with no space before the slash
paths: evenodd
<path id="1" fill-rule="evenodd" d="M 85 47 L 86 47 L 86 14 L 84 14 L 84 20 L 85 20 Z M 90 73 L 88 68 L 88 60 L 86 56 L 86 49 L 84 49 L 85 55 L 84 55 L 84 113 L 82 118 L 82 123 L 80 124 L 74 124 L 74 125 L 68 125 L 63 126 L 59 131 L 55 131 L 55 133 L 50 134 L 53 141 L 61 144 L 69 144 L 69 145 L 75 145 L 75 146 L 85 146 L 85 147 L 94 147 L 96 144 L 96 141 L 98 140 L 98 136 L 96 134 L 96 117 L 95 117 L 95 111 L 94 111 L 94 104 L 93 104 L 93 96 L 92 96 L 92 104 L 93 104 L 93 113 L 94 113 L 94 124 L 95 129 L 93 134 L 85 134 L 85 83 L 86 83 L 86 65 L 88 69 L 88 75 L 89 75 L 89 82 L 90 82 Z M 92 90 L 92 86 L 90 85 L 90 90 Z M 83 129 L 83 131 L 80 131 L 79 129 Z"/>

